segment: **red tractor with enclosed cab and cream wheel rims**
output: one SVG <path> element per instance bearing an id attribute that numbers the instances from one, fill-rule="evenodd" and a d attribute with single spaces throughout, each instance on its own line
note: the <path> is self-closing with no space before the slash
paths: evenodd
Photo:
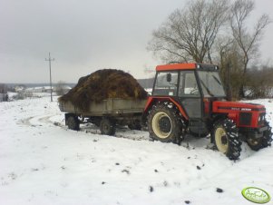
<path id="1" fill-rule="evenodd" d="M 143 114 L 153 140 L 180 143 L 186 134 L 204 137 L 230 160 L 241 142 L 258 151 L 271 145 L 263 105 L 227 101 L 219 68 L 201 63 L 159 65 Z"/>

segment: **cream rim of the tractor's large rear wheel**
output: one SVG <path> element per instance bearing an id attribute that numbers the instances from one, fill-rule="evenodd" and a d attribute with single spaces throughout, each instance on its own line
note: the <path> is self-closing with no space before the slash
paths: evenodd
<path id="1" fill-rule="evenodd" d="M 152 118 L 151 126 L 153 132 L 161 139 L 166 139 L 171 134 L 171 119 L 165 112 L 157 112 Z"/>

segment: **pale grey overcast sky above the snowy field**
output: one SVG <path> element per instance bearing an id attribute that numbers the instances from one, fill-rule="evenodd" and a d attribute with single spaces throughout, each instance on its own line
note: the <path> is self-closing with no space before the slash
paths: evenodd
<path id="1" fill-rule="evenodd" d="M 0 83 L 76 83 L 102 68 L 145 78 L 160 60 L 146 50 L 151 32 L 185 0 L 0 0 Z M 256 0 L 253 18 L 273 19 L 273 0 Z M 273 63 L 273 24 L 261 59 Z"/>

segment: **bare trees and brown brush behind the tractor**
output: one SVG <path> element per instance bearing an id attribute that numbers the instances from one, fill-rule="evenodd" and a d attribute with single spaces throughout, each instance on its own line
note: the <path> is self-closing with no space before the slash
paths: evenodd
<path id="1" fill-rule="evenodd" d="M 233 98 L 267 97 L 272 66 L 251 64 L 258 64 L 258 48 L 271 20 L 262 14 L 249 24 L 254 9 L 253 0 L 189 1 L 152 32 L 147 48 L 164 63 L 219 64 Z"/>

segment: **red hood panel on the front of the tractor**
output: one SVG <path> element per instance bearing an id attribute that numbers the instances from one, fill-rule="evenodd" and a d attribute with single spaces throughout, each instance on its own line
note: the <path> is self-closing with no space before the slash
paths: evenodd
<path id="1" fill-rule="evenodd" d="M 237 112 L 262 112 L 266 111 L 264 105 L 245 102 L 228 102 L 216 101 L 213 102 L 213 112 L 237 111 Z"/>

